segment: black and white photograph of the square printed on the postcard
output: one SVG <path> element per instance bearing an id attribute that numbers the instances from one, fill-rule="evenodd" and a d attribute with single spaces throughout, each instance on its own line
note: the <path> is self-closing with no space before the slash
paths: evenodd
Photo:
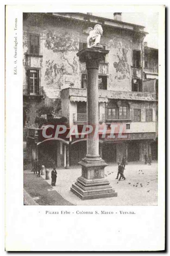
<path id="1" fill-rule="evenodd" d="M 23 13 L 25 205 L 157 205 L 158 16 Z"/>

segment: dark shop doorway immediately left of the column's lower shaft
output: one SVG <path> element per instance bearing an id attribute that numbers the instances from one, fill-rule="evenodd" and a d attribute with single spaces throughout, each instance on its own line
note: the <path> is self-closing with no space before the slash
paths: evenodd
<path id="1" fill-rule="evenodd" d="M 70 165 L 77 165 L 86 156 L 87 141 L 80 141 L 70 146 Z"/>

